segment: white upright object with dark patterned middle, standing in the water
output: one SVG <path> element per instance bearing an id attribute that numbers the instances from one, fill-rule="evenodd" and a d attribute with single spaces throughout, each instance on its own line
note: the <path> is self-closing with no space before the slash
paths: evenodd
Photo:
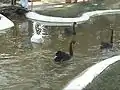
<path id="1" fill-rule="evenodd" d="M 39 22 L 33 22 L 33 36 L 31 37 L 32 43 L 43 43 L 44 39 L 43 35 L 44 33 L 44 26 L 41 25 Z"/>

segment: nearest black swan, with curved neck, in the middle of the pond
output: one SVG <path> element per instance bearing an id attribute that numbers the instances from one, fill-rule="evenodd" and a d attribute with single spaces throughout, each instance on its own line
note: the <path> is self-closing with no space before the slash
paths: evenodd
<path id="1" fill-rule="evenodd" d="M 55 56 L 54 60 L 56 62 L 69 60 L 73 56 L 73 47 L 72 47 L 73 44 L 75 44 L 75 41 L 70 42 L 69 54 L 65 53 L 63 51 L 57 51 L 57 53 L 55 54 L 56 56 Z"/>

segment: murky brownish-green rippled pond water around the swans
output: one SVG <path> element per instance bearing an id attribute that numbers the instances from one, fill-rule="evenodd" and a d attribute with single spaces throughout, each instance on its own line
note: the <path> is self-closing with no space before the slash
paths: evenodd
<path id="1" fill-rule="evenodd" d="M 76 36 L 64 34 L 65 27 L 46 27 L 49 39 L 43 45 L 31 43 L 31 25 L 16 22 L 15 27 L 0 36 L 0 89 L 2 90 L 62 90 L 87 67 L 119 54 L 120 15 L 91 18 L 76 27 Z M 114 29 L 114 47 L 101 51 L 101 41 L 109 41 Z M 71 40 L 76 40 L 71 60 L 55 63 L 58 50 L 68 52 Z"/>

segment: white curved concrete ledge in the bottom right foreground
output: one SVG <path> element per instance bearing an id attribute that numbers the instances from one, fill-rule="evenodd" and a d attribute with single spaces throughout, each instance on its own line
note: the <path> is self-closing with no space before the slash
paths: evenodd
<path id="1" fill-rule="evenodd" d="M 105 70 L 109 65 L 120 60 L 119 56 L 114 56 L 103 60 L 82 72 L 79 76 L 73 79 L 63 90 L 82 90 L 85 88 L 92 80 L 99 75 L 103 70 Z"/>

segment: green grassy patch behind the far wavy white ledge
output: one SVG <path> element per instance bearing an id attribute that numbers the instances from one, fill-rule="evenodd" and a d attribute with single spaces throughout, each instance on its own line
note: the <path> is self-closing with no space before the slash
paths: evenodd
<path id="1" fill-rule="evenodd" d="M 65 4 L 61 8 L 53 8 L 49 10 L 37 11 L 43 15 L 49 16 L 60 16 L 60 17 L 77 17 L 81 16 L 82 13 L 92 10 L 101 10 L 105 7 L 101 4 L 94 5 L 92 3 L 76 3 L 76 4 Z"/>

